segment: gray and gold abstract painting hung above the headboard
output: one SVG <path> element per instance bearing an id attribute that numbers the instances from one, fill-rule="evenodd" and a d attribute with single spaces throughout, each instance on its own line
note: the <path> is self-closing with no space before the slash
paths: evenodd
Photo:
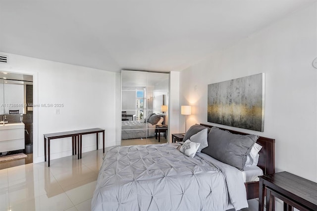
<path id="1" fill-rule="evenodd" d="M 264 131 L 264 73 L 208 85 L 208 122 Z"/>

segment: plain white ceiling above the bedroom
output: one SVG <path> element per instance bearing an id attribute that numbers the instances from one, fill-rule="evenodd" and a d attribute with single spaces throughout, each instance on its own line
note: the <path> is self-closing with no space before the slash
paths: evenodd
<path id="1" fill-rule="evenodd" d="M 0 52 L 179 71 L 316 0 L 0 0 Z"/>

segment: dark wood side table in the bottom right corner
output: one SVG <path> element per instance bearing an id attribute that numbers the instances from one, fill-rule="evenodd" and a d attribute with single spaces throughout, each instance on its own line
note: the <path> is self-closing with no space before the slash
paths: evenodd
<path id="1" fill-rule="evenodd" d="M 286 171 L 260 176 L 259 211 L 274 211 L 274 197 L 284 202 L 284 211 L 317 211 L 317 183 Z"/>

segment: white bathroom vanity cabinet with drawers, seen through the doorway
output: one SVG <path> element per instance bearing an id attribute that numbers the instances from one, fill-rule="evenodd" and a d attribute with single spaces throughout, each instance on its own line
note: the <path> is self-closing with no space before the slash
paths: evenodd
<path id="1" fill-rule="evenodd" d="M 24 148 L 24 123 L 0 124 L 0 153 Z"/>

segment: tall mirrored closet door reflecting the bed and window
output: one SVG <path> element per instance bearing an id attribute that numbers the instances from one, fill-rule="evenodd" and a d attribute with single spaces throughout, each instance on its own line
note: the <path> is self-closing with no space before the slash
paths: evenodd
<path id="1" fill-rule="evenodd" d="M 121 71 L 121 145 L 168 142 L 169 73 Z"/>

